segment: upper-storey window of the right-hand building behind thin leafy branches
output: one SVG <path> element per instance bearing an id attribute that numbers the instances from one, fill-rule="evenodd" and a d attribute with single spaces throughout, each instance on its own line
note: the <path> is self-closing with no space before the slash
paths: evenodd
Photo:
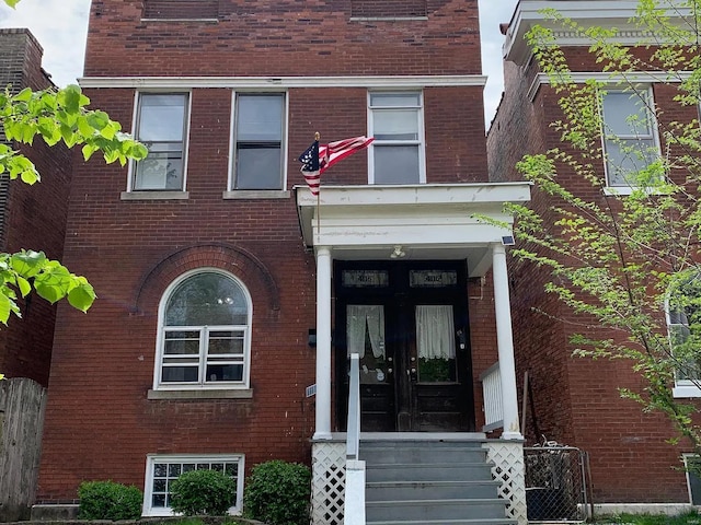
<path id="1" fill-rule="evenodd" d="M 607 186 L 639 187 L 641 171 L 659 158 L 652 93 L 648 88 L 608 90 L 602 112 Z"/>

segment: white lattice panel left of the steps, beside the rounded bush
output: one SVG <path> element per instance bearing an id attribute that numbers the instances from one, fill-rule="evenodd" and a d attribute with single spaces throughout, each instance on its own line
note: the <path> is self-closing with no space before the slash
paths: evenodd
<path id="1" fill-rule="evenodd" d="M 343 525 L 345 486 L 345 441 L 313 443 L 311 447 L 312 525 Z"/>

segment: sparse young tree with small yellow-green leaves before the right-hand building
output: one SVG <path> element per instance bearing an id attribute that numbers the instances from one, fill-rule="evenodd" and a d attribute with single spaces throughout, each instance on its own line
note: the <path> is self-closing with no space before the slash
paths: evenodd
<path id="1" fill-rule="evenodd" d="M 680 12 L 687 15 L 683 25 L 671 16 Z M 698 407 L 676 399 L 671 390 L 679 377 L 701 387 L 700 13 L 699 0 L 641 0 L 634 23 L 656 40 L 625 47 L 617 43 L 617 30 L 581 26 L 543 12 L 588 38 L 589 52 L 610 78 L 575 83 L 552 31 L 537 26 L 528 34 L 559 95 L 562 119 L 552 127 L 561 145 L 517 165 L 547 206 L 539 211 L 513 206 L 510 211 L 517 217 L 521 247 L 514 255 L 519 264 L 548 268 L 547 291 L 584 319 L 581 334 L 571 338 L 575 353 L 627 360 L 644 387 L 621 388 L 621 395 L 646 411 L 664 412 L 676 429 L 673 441 L 683 436 L 701 455 L 701 428 L 693 418 Z M 663 115 L 640 89 L 634 74 L 640 71 L 653 71 L 665 90 L 674 90 L 675 104 L 697 117 L 671 121 Z M 612 88 L 636 101 L 641 115 L 653 117 L 662 153 L 637 140 L 617 139 L 607 128 L 601 108 Z M 641 124 L 635 118 L 629 120 L 632 129 Z M 602 135 L 619 155 L 605 151 Z M 616 159 L 623 162 L 617 165 Z M 630 195 L 606 187 L 605 162 L 610 171 L 620 170 Z"/>

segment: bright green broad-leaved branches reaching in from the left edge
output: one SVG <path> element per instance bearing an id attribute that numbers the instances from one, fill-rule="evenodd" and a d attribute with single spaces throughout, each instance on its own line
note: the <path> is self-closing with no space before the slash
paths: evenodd
<path id="1" fill-rule="evenodd" d="M 3 0 L 14 8 L 20 0 Z M 30 159 L 12 144 L 32 144 L 37 136 L 49 147 L 62 142 L 68 148 L 82 147 L 89 160 L 101 152 L 105 162 L 140 160 L 146 148 L 124 133 L 119 122 L 101 110 L 89 109 L 90 100 L 78 85 L 41 91 L 24 89 L 13 93 L 9 88 L 0 93 L 0 122 L 4 137 L 12 143 L 0 143 L 0 176 L 35 184 L 41 176 Z M 67 299 L 71 306 L 85 312 L 95 292 L 84 277 L 76 276 L 43 252 L 0 253 L 0 323 L 10 315 L 21 315 L 18 293 L 26 296 L 32 290 L 55 303 Z M 2 375 L 0 374 L 0 378 Z"/>

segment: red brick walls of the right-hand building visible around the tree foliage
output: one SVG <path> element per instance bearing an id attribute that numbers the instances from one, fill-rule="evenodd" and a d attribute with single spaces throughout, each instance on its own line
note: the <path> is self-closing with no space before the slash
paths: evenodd
<path id="1" fill-rule="evenodd" d="M 564 47 L 563 51 L 572 71 L 600 71 L 586 47 Z M 487 136 L 490 176 L 495 180 L 521 179 L 515 164 L 522 155 L 563 147 L 560 131 L 550 126 L 563 118 L 560 95 L 543 84 L 529 100 L 538 70 L 535 60 L 527 62 L 505 62 L 505 95 Z M 673 102 L 673 89 L 652 88 L 660 126 L 698 118 L 694 107 L 682 112 Z M 662 148 L 664 151 L 664 143 Z M 559 166 L 558 177 L 576 195 L 604 205 L 601 192 L 566 166 Z M 553 220 L 549 199 L 536 189 L 532 192 L 530 206 L 545 221 Z M 525 372 L 532 387 L 532 410 L 528 408 L 522 429 L 527 443 L 539 443 L 544 436 L 586 451 L 595 503 L 688 503 L 686 474 L 679 463 L 685 450 L 667 443 L 674 435 L 671 425 L 664 416 L 642 413 L 640 405 L 619 395 L 618 388 L 635 392 L 643 387 L 630 364 L 573 357 L 570 337 L 586 334 L 584 327 L 596 324 L 594 319 L 574 315 L 554 294 L 545 293 L 548 276 L 541 268 L 513 261 L 509 276 L 519 388 Z M 601 337 L 597 334 L 595 337 Z"/>

